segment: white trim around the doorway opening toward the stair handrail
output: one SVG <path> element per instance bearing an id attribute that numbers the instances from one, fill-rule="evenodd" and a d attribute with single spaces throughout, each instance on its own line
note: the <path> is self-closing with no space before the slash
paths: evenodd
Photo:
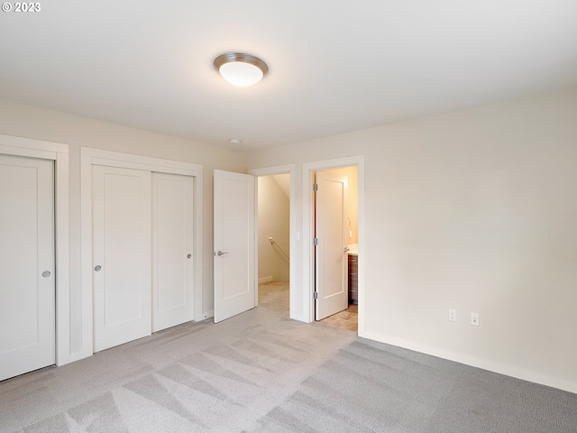
<path id="1" fill-rule="evenodd" d="M 290 175 L 290 198 L 289 198 L 289 255 L 290 259 L 297 257 L 298 252 L 298 243 L 300 241 L 296 240 L 295 234 L 297 233 L 297 172 L 295 164 L 287 164 L 287 165 L 277 165 L 274 167 L 264 167 L 261 169 L 253 169 L 249 170 L 249 174 L 252 176 L 272 176 L 274 174 L 285 174 L 289 173 Z M 258 182 L 254 182 L 255 185 L 258 185 Z M 256 196 L 256 208 L 258 209 L 258 194 Z M 257 213 L 258 215 L 258 213 Z M 256 224 L 258 225 L 258 217 L 256 218 Z M 255 227 L 255 235 L 258 236 L 258 227 Z M 258 239 L 256 240 L 255 245 L 258 245 Z M 255 248 L 255 263 L 257 266 L 256 275 L 258 275 L 258 263 L 259 263 L 259 256 L 258 256 L 258 248 Z M 297 281 L 297 269 L 294 265 L 294 260 L 289 260 L 289 279 L 290 279 L 290 288 L 289 288 L 289 317 L 295 320 L 300 320 L 301 322 L 306 322 L 307 318 L 300 313 L 297 313 L 298 310 L 297 306 L 295 306 L 293 299 L 298 299 L 296 296 L 298 288 Z M 260 281 L 259 281 L 260 282 Z M 258 288 L 257 288 L 258 290 Z M 258 293 L 258 291 L 257 291 Z"/>

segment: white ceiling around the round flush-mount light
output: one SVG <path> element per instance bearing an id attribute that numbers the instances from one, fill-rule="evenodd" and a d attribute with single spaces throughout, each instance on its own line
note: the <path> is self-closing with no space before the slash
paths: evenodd
<path id="1" fill-rule="evenodd" d="M 234 88 L 213 68 L 226 51 L 269 75 Z M 575 0 L 50 0 L 0 13 L 0 98 L 241 150 L 575 84 Z"/>

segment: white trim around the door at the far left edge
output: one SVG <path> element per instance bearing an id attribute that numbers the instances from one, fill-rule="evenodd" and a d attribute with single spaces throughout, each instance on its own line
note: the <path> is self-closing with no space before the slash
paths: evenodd
<path id="1" fill-rule="evenodd" d="M 69 146 L 0 134 L 0 153 L 54 161 L 56 243 L 56 364 L 70 355 Z"/>

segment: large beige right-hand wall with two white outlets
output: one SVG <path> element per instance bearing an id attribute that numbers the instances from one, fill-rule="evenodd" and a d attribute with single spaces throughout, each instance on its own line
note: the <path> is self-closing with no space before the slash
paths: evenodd
<path id="1" fill-rule="evenodd" d="M 576 140 L 570 88 L 248 161 L 296 164 L 302 201 L 303 163 L 364 155 L 363 336 L 577 392 Z"/>

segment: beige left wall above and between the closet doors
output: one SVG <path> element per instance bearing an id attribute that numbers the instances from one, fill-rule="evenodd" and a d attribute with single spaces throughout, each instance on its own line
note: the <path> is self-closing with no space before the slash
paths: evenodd
<path id="1" fill-rule="evenodd" d="M 80 147 L 187 161 L 204 169 L 203 311 L 213 310 L 213 170 L 245 172 L 243 153 L 203 143 L 0 100 L 0 134 L 69 144 L 70 349 L 82 346 L 80 275 Z"/>

